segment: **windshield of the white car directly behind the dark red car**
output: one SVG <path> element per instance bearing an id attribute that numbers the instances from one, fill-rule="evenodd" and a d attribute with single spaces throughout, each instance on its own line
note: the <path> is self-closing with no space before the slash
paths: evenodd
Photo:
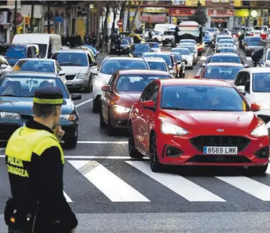
<path id="1" fill-rule="evenodd" d="M 100 73 L 112 75 L 116 71 L 139 69 L 147 70 L 148 66 L 145 61 L 136 60 L 106 60 L 103 62 Z"/>

